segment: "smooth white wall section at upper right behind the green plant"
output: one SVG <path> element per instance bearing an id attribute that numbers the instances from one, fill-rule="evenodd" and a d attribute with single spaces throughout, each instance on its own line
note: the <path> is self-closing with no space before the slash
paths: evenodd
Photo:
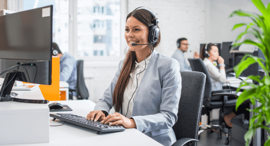
<path id="1" fill-rule="evenodd" d="M 268 4 L 270 0 L 262 0 Z M 235 41 L 240 32 L 245 28 L 232 28 L 237 23 L 250 23 L 252 20 L 246 17 L 233 16 L 235 10 L 241 9 L 246 12 L 261 14 L 251 0 L 205 0 L 205 42 L 222 43 L 224 41 Z"/>

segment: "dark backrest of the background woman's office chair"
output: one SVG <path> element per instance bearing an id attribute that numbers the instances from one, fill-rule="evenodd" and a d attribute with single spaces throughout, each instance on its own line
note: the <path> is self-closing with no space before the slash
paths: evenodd
<path id="1" fill-rule="evenodd" d="M 188 59 L 190 63 L 190 67 L 192 71 L 195 72 L 202 72 L 206 75 L 206 81 L 205 81 L 205 88 L 204 88 L 204 98 L 209 98 L 211 97 L 211 92 L 212 92 L 212 82 L 210 80 L 210 75 L 202 61 L 201 58 L 198 59 Z"/>

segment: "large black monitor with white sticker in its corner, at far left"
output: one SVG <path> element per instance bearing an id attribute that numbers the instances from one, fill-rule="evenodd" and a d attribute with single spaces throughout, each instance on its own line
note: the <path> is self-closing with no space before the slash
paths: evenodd
<path id="1" fill-rule="evenodd" d="M 0 73 L 18 65 L 8 70 L 13 78 L 0 76 L 0 98 L 10 94 L 14 79 L 51 85 L 52 11 L 50 5 L 0 16 Z"/>

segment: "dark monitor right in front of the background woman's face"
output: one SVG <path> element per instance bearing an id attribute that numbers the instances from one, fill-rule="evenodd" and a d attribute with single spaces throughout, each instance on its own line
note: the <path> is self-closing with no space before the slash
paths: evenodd
<path id="1" fill-rule="evenodd" d="M 226 69 L 233 67 L 233 54 L 229 53 L 232 43 L 233 43 L 232 41 L 222 42 L 222 49 L 221 49 L 221 53 L 219 54 L 224 59 L 224 64 L 226 65 Z"/>

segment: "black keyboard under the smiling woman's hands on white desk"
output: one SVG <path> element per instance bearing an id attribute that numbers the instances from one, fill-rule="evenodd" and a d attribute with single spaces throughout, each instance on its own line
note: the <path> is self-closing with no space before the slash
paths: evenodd
<path id="1" fill-rule="evenodd" d="M 101 132 L 115 132 L 125 130 L 123 126 L 111 126 L 109 124 L 102 124 L 99 121 L 90 121 L 87 120 L 85 117 L 81 117 L 75 114 L 50 114 L 50 117 L 54 118 L 53 121 L 55 119 L 59 119 L 75 125 L 96 130 L 98 131 L 97 134 L 100 134 Z"/>

